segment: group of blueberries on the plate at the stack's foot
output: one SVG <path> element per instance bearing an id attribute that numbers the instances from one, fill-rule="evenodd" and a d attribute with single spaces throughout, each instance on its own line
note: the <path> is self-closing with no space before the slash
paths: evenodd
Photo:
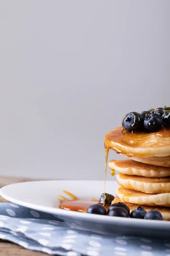
<path id="1" fill-rule="evenodd" d="M 162 215 L 157 210 L 150 210 L 148 212 L 145 211 L 144 208 L 138 207 L 134 209 L 132 212 L 130 212 L 129 207 L 124 203 L 115 203 L 111 204 L 111 198 L 114 199 L 114 196 L 111 194 L 105 193 L 105 198 L 110 198 L 110 201 L 107 201 L 106 205 L 110 205 L 108 207 L 108 211 L 105 209 L 105 207 L 100 204 L 101 198 L 103 198 L 103 194 L 101 195 L 99 199 L 98 204 L 92 204 L 89 206 L 86 210 L 87 213 L 92 214 L 100 214 L 100 215 L 108 215 L 108 216 L 116 216 L 116 217 L 124 217 L 124 218 L 141 218 L 141 219 L 148 219 L 148 220 L 160 220 L 162 221 Z M 103 201 L 103 200 L 102 200 Z"/>

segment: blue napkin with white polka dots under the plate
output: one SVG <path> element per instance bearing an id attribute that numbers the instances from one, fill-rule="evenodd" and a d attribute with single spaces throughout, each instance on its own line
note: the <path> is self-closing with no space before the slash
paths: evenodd
<path id="1" fill-rule="evenodd" d="M 73 230 L 55 215 L 0 203 L 0 239 L 59 256 L 170 256 L 170 243 Z"/>

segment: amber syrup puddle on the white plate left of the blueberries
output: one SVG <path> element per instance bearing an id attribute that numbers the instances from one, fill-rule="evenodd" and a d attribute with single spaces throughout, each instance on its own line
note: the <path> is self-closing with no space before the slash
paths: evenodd
<path id="1" fill-rule="evenodd" d="M 66 192 L 67 192 L 67 195 L 70 195 L 70 197 L 73 198 L 73 200 L 69 200 L 66 198 L 65 199 L 58 198 L 60 201 L 60 204 L 59 204 L 60 209 L 76 211 L 76 212 L 86 212 L 88 207 L 91 206 L 92 204 L 99 204 L 99 201 L 94 198 L 92 198 L 91 200 L 82 200 L 77 198 L 73 194 L 69 193 L 68 191 Z M 104 207 L 107 210 L 109 206 L 105 205 Z"/>

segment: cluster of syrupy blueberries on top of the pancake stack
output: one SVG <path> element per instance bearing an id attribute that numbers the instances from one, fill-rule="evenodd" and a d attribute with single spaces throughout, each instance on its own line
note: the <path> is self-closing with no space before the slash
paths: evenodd
<path id="1" fill-rule="evenodd" d="M 131 112 L 122 120 L 122 126 L 128 132 L 156 132 L 163 125 L 170 125 L 170 108 L 151 108 L 141 113 Z"/>

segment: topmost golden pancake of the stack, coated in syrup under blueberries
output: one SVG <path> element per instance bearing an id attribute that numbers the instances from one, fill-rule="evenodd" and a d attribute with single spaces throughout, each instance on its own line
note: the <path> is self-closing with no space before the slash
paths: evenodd
<path id="1" fill-rule="evenodd" d="M 170 156 L 170 127 L 158 132 L 122 133 L 122 127 L 108 132 L 104 138 L 105 148 L 128 157 Z"/>

